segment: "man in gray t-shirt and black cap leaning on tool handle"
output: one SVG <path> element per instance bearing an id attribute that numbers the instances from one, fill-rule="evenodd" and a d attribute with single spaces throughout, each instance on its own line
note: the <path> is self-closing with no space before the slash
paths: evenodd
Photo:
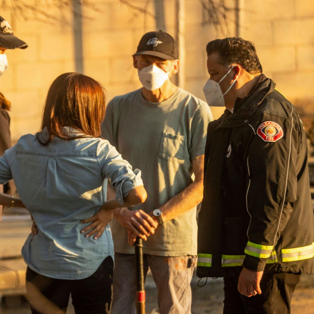
<path id="1" fill-rule="evenodd" d="M 113 98 L 102 124 L 102 136 L 142 171 L 148 194 L 145 203 L 114 212 L 113 314 L 136 312 L 134 249 L 128 245 L 136 236 L 147 239 L 144 271 L 152 271 L 160 313 L 191 313 L 196 206 L 203 197 L 203 154 L 212 115 L 204 101 L 171 83 L 177 57 L 169 34 L 143 35 L 133 55 L 143 87 Z"/>

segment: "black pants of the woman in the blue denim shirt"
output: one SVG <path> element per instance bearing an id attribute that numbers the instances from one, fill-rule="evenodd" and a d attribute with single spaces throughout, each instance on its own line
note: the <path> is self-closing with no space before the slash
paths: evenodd
<path id="1" fill-rule="evenodd" d="M 54 279 L 26 270 L 26 292 L 32 314 L 65 313 L 70 294 L 76 314 L 110 313 L 113 260 L 106 257 L 85 279 Z"/>

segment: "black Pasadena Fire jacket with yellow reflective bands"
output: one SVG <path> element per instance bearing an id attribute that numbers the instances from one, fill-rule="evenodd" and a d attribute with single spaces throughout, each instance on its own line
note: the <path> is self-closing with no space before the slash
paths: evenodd
<path id="1" fill-rule="evenodd" d="M 306 135 L 295 107 L 261 76 L 234 113 L 208 125 L 198 277 L 313 273 Z"/>

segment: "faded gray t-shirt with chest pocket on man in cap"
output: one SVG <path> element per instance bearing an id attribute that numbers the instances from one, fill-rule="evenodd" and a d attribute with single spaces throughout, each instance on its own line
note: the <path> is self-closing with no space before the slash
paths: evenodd
<path id="1" fill-rule="evenodd" d="M 149 102 L 141 89 L 113 98 L 106 109 L 102 136 L 133 168 L 142 171 L 148 197 L 131 209 L 149 213 L 192 183 L 192 160 L 204 154 L 208 105 L 178 88 L 167 100 Z M 115 219 L 111 225 L 114 251 L 134 253 L 127 231 Z M 143 252 L 161 256 L 196 255 L 196 207 L 159 225 L 144 242 Z"/>

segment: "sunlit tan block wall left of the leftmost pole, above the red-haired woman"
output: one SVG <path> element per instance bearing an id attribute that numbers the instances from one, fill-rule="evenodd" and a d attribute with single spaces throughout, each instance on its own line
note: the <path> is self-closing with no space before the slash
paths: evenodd
<path id="1" fill-rule="evenodd" d="M 54 6 L 48 5 L 46 9 L 59 16 Z M 0 91 L 11 101 L 10 129 L 14 143 L 21 135 L 39 130 L 50 84 L 61 73 L 73 72 L 73 36 L 70 26 L 25 21 L 10 11 L 2 10 L 0 15 L 8 20 L 14 35 L 29 45 L 26 49 L 6 50 L 9 67 L 0 78 Z M 69 14 L 67 17 L 71 21 Z"/>

